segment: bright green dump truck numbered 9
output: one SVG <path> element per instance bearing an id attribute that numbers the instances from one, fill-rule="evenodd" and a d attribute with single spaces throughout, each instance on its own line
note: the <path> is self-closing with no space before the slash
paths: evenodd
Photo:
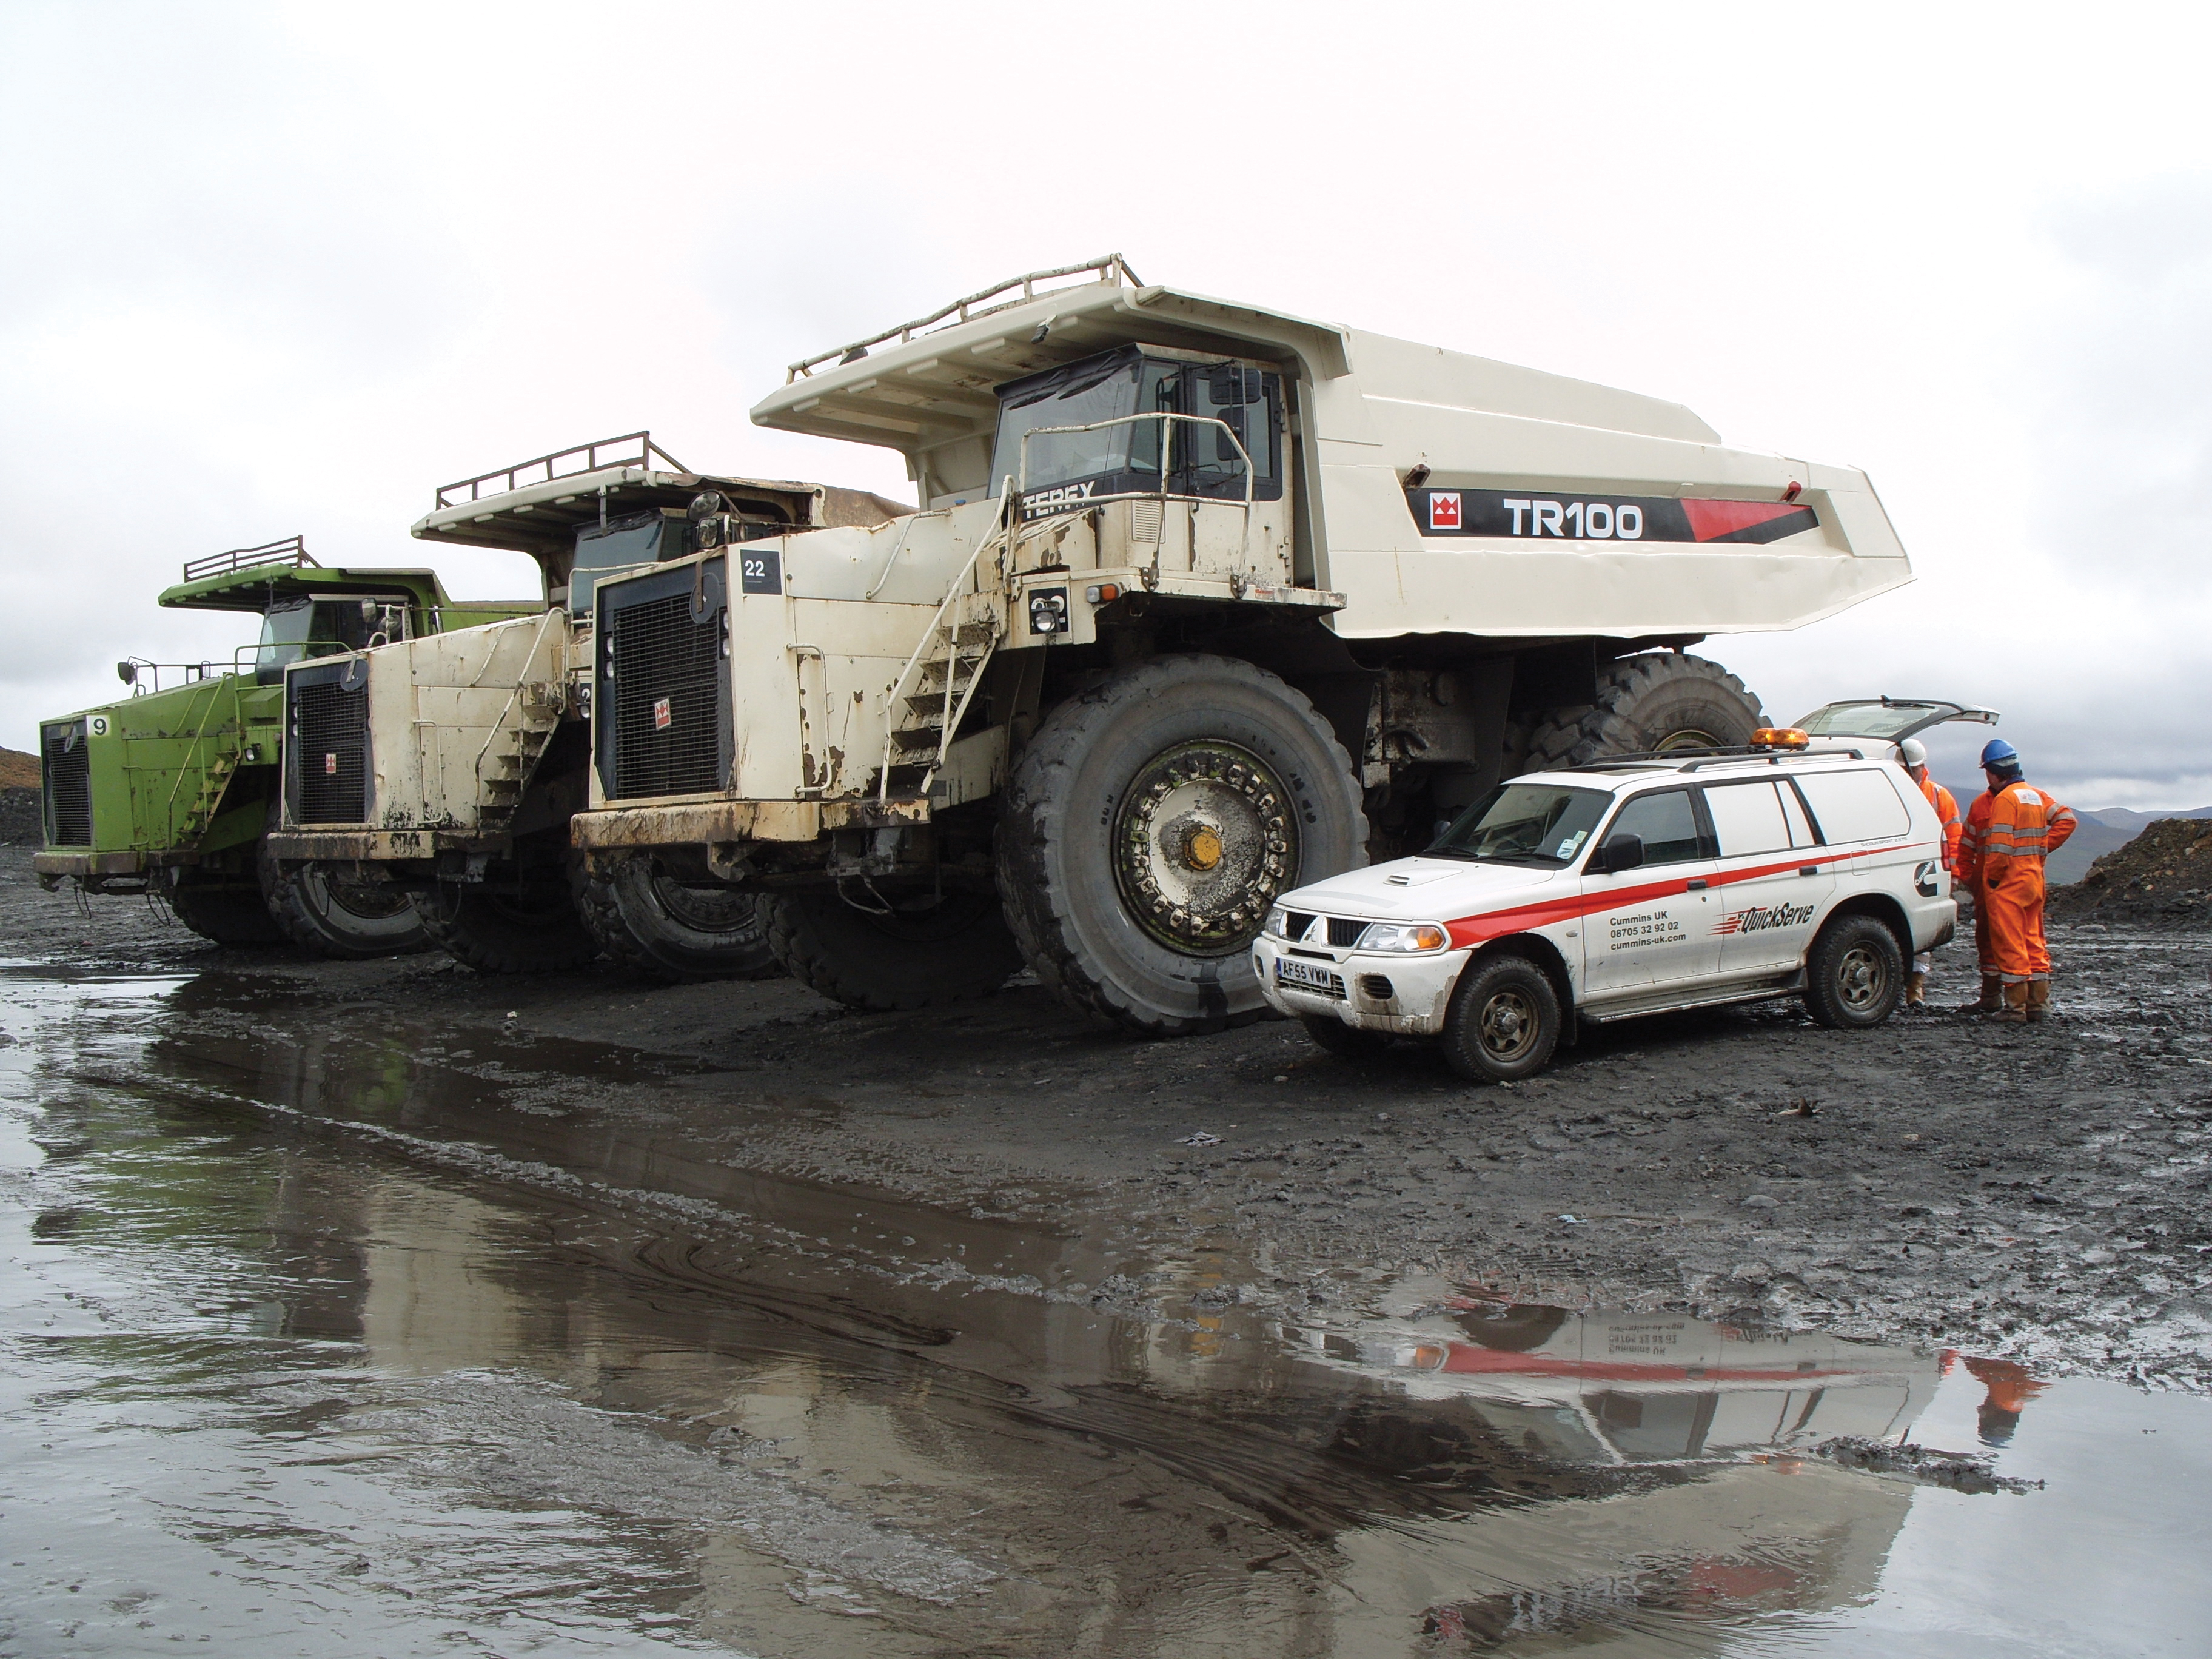
<path id="1" fill-rule="evenodd" d="M 215 664 L 117 664 L 131 697 L 40 726 L 46 887 L 155 894 L 217 945 L 290 938 L 323 956 L 427 945 L 396 894 L 319 865 L 279 869 L 263 832 L 276 803 L 285 664 L 535 611 L 456 604 L 429 571 L 325 571 L 301 538 L 184 566 L 159 604 L 261 615 L 261 641 Z M 164 688 L 164 677 L 168 686 Z"/>

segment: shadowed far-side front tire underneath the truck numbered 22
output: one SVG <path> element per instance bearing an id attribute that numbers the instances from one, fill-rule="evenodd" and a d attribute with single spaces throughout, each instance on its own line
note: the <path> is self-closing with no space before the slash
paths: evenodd
<path id="1" fill-rule="evenodd" d="M 876 896 L 860 891 L 869 905 Z M 905 905 L 900 907 L 900 900 Z M 849 1009 L 889 1013 L 973 1002 L 998 991 L 1022 953 L 989 894 L 889 894 L 889 916 L 830 889 L 772 896 L 768 947 L 794 980 Z"/>

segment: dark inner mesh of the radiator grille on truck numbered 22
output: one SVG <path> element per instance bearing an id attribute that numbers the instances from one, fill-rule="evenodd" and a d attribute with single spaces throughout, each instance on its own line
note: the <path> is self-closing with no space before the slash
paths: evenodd
<path id="1" fill-rule="evenodd" d="M 723 774 L 723 608 L 692 619 L 690 588 L 657 599 L 608 604 L 602 661 L 615 714 L 617 799 L 701 794 Z"/>

